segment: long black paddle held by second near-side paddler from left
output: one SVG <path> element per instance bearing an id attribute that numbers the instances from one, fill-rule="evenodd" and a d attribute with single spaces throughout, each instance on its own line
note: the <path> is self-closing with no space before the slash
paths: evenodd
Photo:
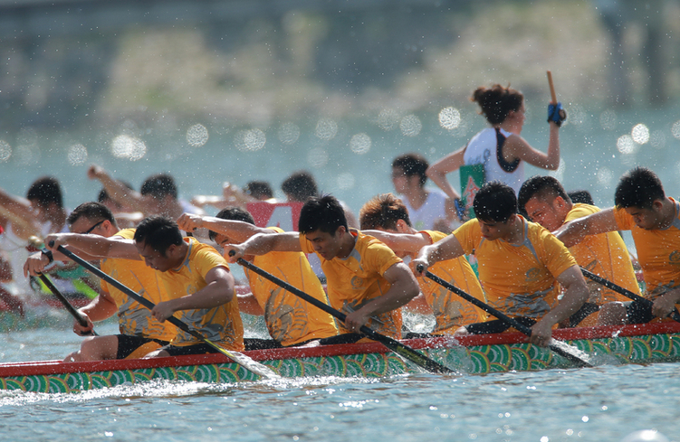
<path id="1" fill-rule="evenodd" d="M 233 254 L 233 250 L 230 252 Z M 345 314 L 339 312 L 335 308 L 328 306 L 327 304 L 322 303 L 320 300 L 307 295 L 304 293 L 302 290 L 296 287 L 292 287 L 290 284 L 287 282 L 283 281 L 282 279 L 279 279 L 278 277 L 274 277 L 271 273 L 264 271 L 262 268 L 259 268 L 255 266 L 254 264 L 246 261 L 245 259 L 239 258 L 237 260 L 239 264 L 241 264 L 244 268 L 248 268 L 261 277 L 264 277 L 266 279 L 269 279 L 272 281 L 274 284 L 278 285 L 279 287 L 283 287 L 284 289 L 288 290 L 291 292 L 293 295 L 301 297 L 308 303 L 310 303 L 312 306 L 316 306 L 318 308 L 321 308 L 324 312 L 335 316 L 336 318 L 340 319 L 340 321 L 344 322 L 345 321 Z M 366 325 L 361 325 L 361 328 L 359 331 L 362 334 L 366 334 L 370 339 L 377 341 L 378 343 L 382 343 L 386 347 L 388 347 L 389 350 L 391 350 L 394 353 L 399 354 L 400 356 L 404 357 L 410 362 L 413 362 L 417 364 L 418 366 L 424 368 L 426 371 L 430 371 L 433 373 L 453 373 L 455 371 L 449 369 L 448 367 L 445 367 L 439 362 L 433 361 L 430 358 L 428 358 L 426 355 L 422 353 L 418 353 L 416 350 L 412 349 L 411 347 L 408 347 L 407 345 L 404 345 L 403 343 L 400 343 L 389 336 L 386 336 L 384 334 L 379 334 L 375 330 L 371 330 L 369 327 Z"/>

